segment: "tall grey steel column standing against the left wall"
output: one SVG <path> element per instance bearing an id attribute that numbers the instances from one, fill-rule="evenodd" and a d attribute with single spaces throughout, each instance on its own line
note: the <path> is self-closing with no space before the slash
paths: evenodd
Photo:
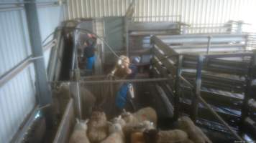
<path id="1" fill-rule="evenodd" d="M 37 17 L 37 5 L 35 0 L 26 0 L 24 4 L 27 24 L 29 30 L 29 39 L 32 47 L 33 56 L 43 56 L 42 39 L 40 36 L 39 21 Z M 47 74 L 44 59 L 34 60 L 35 76 L 37 81 L 37 97 L 40 107 L 52 103 L 50 87 L 47 84 Z"/>

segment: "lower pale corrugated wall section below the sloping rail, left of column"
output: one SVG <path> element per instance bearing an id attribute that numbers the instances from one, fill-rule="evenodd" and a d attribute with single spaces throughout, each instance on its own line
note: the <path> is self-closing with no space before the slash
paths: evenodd
<path id="1" fill-rule="evenodd" d="M 35 87 L 30 67 L 0 88 L 0 142 L 9 142 L 35 107 Z"/>

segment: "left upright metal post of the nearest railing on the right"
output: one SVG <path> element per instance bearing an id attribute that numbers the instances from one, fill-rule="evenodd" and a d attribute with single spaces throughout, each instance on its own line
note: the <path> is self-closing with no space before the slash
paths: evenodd
<path id="1" fill-rule="evenodd" d="M 175 91 L 174 91 L 174 119 L 178 119 L 180 115 L 180 76 L 182 68 L 183 56 L 178 55 L 177 69 L 175 77 Z"/>

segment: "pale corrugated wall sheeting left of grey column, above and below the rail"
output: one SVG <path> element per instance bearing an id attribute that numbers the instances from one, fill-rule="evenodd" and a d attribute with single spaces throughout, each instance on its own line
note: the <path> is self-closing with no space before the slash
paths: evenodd
<path id="1" fill-rule="evenodd" d="M 0 12 L 0 76 L 32 52 L 24 10 Z M 0 142 L 9 142 L 35 107 L 35 70 L 32 65 L 0 88 Z"/>

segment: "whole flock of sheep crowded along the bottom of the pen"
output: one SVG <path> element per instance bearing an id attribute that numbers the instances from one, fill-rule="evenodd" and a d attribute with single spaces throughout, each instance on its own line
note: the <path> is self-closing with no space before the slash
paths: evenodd
<path id="1" fill-rule="evenodd" d="M 210 143 L 189 117 L 178 119 L 178 128 L 158 130 L 155 109 L 145 107 L 135 113 L 123 112 L 106 119 L 104 112 L 94 111 L 90 119 L 77 120 L 70 143 Z"/>

